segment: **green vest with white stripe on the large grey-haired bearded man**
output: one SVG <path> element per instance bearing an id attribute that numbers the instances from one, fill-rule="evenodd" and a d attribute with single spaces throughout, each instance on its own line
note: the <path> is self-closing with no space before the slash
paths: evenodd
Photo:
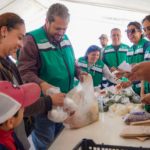
<path id="1" fill-rule="evenodd" d="M 34 37 L 41 56 L 40 79 L 59 87 L 61 92 L 68 93 L 73 88 L 75 74 L 74 52 L 68 37 L 62 37 L 59 49 L 49 42 L 42 27 L 28 34 Z"/>

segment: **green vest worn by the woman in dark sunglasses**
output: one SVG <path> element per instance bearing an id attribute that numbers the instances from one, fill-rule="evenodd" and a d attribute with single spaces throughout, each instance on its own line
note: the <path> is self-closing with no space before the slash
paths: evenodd
<path id="1" fill-rule="evenodd" d="M 139 63 L 144 61 L 144 44 L 148 42 L 146 39 L 142 38 L 136 48 L 134 49 L 134 45 L 131 46 L 127 52 L 126 61 L 131 65 L 133 63 Z M 148 83 L 144 82 L 145 92 L 148 91 Z M 134 84 L 132 86 L 133 90 L 140 94 L 141 92 L 141 83 Z"/>

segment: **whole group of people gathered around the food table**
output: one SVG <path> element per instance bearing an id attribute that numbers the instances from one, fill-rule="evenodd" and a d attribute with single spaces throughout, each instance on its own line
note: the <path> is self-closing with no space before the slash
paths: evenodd
<path id="1" fill-rule="evenodd" d="M 128 24 L 126 33 L 133 46 L 122 43 L 121 30 L 114 28 L 111 45 L 102 34 L 102 48 L 91 45 L 77 60 L 65 34 L 69 21 L 67 7 L 59 3 L 50 6 L 42 27 L 28 33 L 17 14 L 0 15 L 0 150 L 28 150 L 30 134 L 35 149 L 45 150 L 63 128 L 49 120 L 47 112 L 52 105 L 63 106 L 66 94 L 88 73 L 94 87 L 132 86 L 150 112 L 150 15 L 142 25 Z M 17 65 L 10 55 L 18 59 Z M 123 61 L 132 66 L 131 73 L 118 69 Z M 61 93 L 46 95 L 52 87 L 59 87 Z"/>

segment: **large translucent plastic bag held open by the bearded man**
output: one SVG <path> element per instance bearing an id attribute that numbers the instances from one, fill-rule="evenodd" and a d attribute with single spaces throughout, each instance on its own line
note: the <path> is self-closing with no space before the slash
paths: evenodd
<path id="1" fill-rule="evenodd" d="M 67 97 L 77 104 L 78 110 L 63 122 L 66 128 L 81 128 L 99 120 L 98 102 L 90 74 L 84 76 L 84 82 L 72 89 Z"/>

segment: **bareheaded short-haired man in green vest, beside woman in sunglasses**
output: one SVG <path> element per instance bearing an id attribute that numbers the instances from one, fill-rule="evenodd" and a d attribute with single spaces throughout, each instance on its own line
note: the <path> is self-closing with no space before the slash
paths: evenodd
<path id="1" fill-rule="evenodd" d="M 118 66 L 126 60 L 126 54 L 129 49 L 128 45 L 121 43 L 121 31 L 118 28 L 111 30 L 111 40 L 112 44 L 108 45 L 104 49 L 103 61 L 109 67 L 111 72 L 118 70 Z M 122 83 L 123 87 L 131 86 L 131 82 L 125 78 L 121 80 L 126 81 Z M 114 85 L 111 82 L 108 82 L 109 86 Z"/>

